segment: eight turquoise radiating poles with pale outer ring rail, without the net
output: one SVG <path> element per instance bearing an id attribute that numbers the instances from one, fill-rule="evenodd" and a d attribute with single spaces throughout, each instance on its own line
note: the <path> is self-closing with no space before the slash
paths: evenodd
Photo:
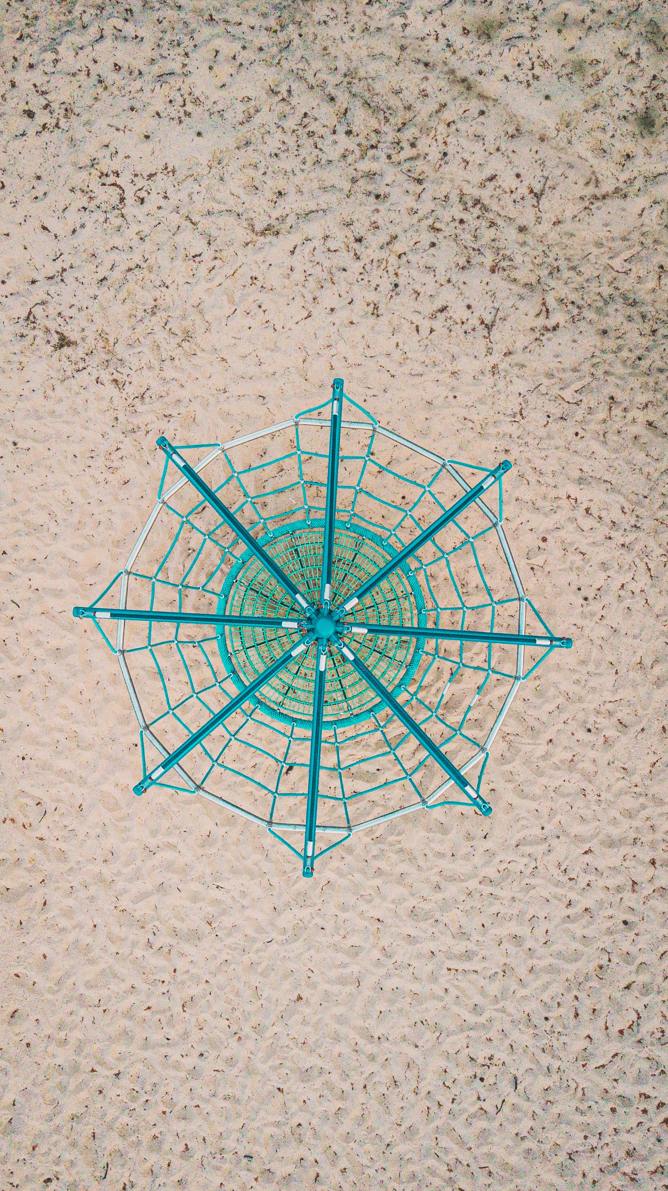
<path id="1" fill-rule="evenodd" d="M 139 725 L 141 728 L 141 731 L 144 732 L 146 740 L 149 740 L 155 746 L 157 752 L 164 759 L 162 765 L 153 767 L 153 769 L 151 769 L 150 773 L 147 773 L 145 778 L 137 784 L 137 786 L 134 787 L 136 792 L 143 793 L 144 790 L 147 788 L 147 786 L 153 784 L 153 781 L 159 781 L 159 779 L 164 775 L 164 773 L 166 773 L 169 769 L 174 769 L 175 773 L 178 774 L 179 779 L 185 782 L 188 788 L 201 794 L 202 797 L 207 798 L 214 804 L 220 805 L 241 816 L 242 818 L 246 818 L 250 822 L 265 827 L 272 835 L 279 838 L 283 843 L 286 843 L 290 850 L 301 858 L 303 865 L 302 871 L 304 877 L 313 877 L 315 860 L 324 855 L 333 847 L 336 847 L 339 843 L 344 841 L 344 838 L 347 838 L 360 830 L 365 830 L 371 827 L 395 819 L 402 815 L 411 813 L 420 809 L 431 809 L 436 805 L 439 806 L 473 805 L 477 810 L 479 810 L 484 815 L 491 813 L 492 810 L 491 806 L 489 805 L 489 803 L 485 802 L 485 799 L 480 797 L 479 792 L 475 790 L 474 786 L 471 785 L 471 782 L 466 779 L 465 774 L 468 769 L 477 766 L 479 762 L 483 762 L 483 765 L 485 763 L 489 756 L 489 750 L 492 744 L 492 741 L 494 740 L 497 732 L 500 729 L 503 719 L 505 718 L 510 709 L 510 705 L 512 704 L 512 700 L 517 693 L 519 684 L 523 681 L 523 679 L 528 676 L 528 674 L 524 674 L 523 672 L 524 648 L 525 646 L 541 646 L 544 647 L 546 650 L 549 653 L 553 648 L 571 648 L 572 646 L 572 641 L 568 637 L 557 637 L 547 631 L 543 636 L 536 636 L 527 634 L 524 631 L 527 605 L 529 601 L 524 592 L 522 580 L 519 579 L 519 574 L 517 572 L 517 567 L 515 565 L 510 545 L 505 537 L 500 516 L 497 517 L 494 512 L 483 500 L 483 497 L 486 493 L 486 491 L 503 476 L 504 472 L 506 472 L 510 468 L 510 463 L 508 461 L 504 461 L 496 469 L 489 472 L 486 478 L 481 480 L 478 485 L 471 486 L 459 473 L 454 461 L 442 459 L 435 453 L 429 451 L 426 448 L 422 448 L 418 444 L 412 443 L 399 435 L 396 435 L 393 431 L 379 426 L 374 419 L 367 419 L 364 422 L 345 420 L 341 416 L 342 403 L 345 399 L 347 398 L 346 394 L 344 393 L 344 382 L 342 380 L 336 379 L 333 385 L 332 411 L 329 419 L 324 419 L 322 417 L 313 417 L 309 416 L 309 413 L 301 416 L 296 414 L 294 418 L 278 423 L 273 426 L 269 426 L 265 430 L 259 430 L 248 435 L 242 435 L 227 443 L 214 444 L 209 454 L 207 454 L 195 467 L 191 467 L 185 462 L 183 456 L 179 454 L 178 448 L 172 447 L 172 444 L 169 443 L 166 438 L 160 437 L 158 439 L 158 445 L 165 451 L 168 457 L 182 473 L 182 479 L 172 484 L 171 487 L 164 494 L 162 494 L 162 497 L 157 500 L 156 505 L 151 511 L 151 515 L 149 516 L 146 524 L 144 525 L 144 529 L 141 530 L 128 556 L 124 570 L 120 573 L 119 576 L 116 576 L 116 580 L 119 578 L 121 580 L 118 609 L 111 609 L 111 607 L 105 609 L 99 606 L 96 601 L 93 605 L 86 607 L 75 607 L 73 610 L 74 616 L 87 617 L 93 619 L 96 623 L 97 628 L 100 628 L 100 631 L 102 631 L 102 629 L 97 624 L 99 621 L 108 619 L 118 622 L 115 649 L 105 632 L 103 636 L 109 643 L 111 648 L 114 649 L 114 651 L 116 653 L 124 681 L 126 684 L 131 703 L 134 713 L 137 716 L 137 719 L 139 722 Z M 354 405 L 354 403 L 352 404 Z M 264 671 L 256 681 L 245 687 L 234 699 L 229 700 L 229 703 L 226 704 L 226 706 L 222 709 L 221 712 L 219 712 L 216 716 L 207 721 L 202 725 L 202 728 L 198 729 L 197 732 L 191 734 L 188 737 L 188 740 L 182 746 L 179 746 L 179 748 L 175 749 L 172 753 L 169 753 L 169 750 L 165 748 L 162 741 L 151 730 L 145 719 L 140 701 L 137 696 L 137 691 L 132 681 L 132 676 L 130 674 L 124 649 L 125 625 L 126 623 L 132 621 L 166 622 L 174 624 L 202 624 L 212 626 L 248 625 L 263 629 L 265 628 L 272 629 L 275 631 L 290 630 L 296 628 L 301 628 L 302 631 L 304 631 L 307 629 L 308 625 L 307 623 L 304 623 L 302 618 L 307 613 L 311 616 L 315 615 L 316 610 L 308 604 L 303 594 L 284 574 L 281 567 L 278 567 L 275 560 L 272 560 L 270 555 L 266 554 L 266 551 L 252 537 L 252 534 L 248 530 L 246 530 L 246 528 L 231 512 L 231 510 L 228 510 L 227 506 L 220 500 L 216 493 L 212 488 L 209 488 L 208 485 L 206 485 L 200 476 L 200 472 L 202 472 L 210 462 L 213 462 L 213 460 L 219 457 L 222 453 L 232 450 L 233 448 L 240 447 L 245 443 L 260 439 L 263 437 L 266 437 L 267 435 L 276 434 L 277 431 L 289 428 L 297 428 L 302 425 L 329 428 L 326 526 L 323 537 L 323 565 L 322 565 L 322 580 L 321 580 L 321 606 L 326 611 L 330 610 L 329 597 L 332 592 L 332 586 L 330 586 L 332 562 L 334 551 L 336 485 L 338 485 L 338 467 L 340 457 L 341 429 L 370 430 L 439 464 L 462 488 L 462 497 L 460 498 L 459 501 L 455 503 L 454 506 L 452 506 L 450 510 L 446 510 L 446 512 L 440 518 L 437 518 L 431 524 L 431 526 L 429 526 L 427 530 L 423 530 L 416 540 L 409 542 L 408 545 L 402 551 L 399 551 L 398 555 L 396 555 L 392 560 L 390 560 L 390 562 L 384 568 L 382 568 L 382 570 L 377 575 L 371 576 L 371 579 L 367 580 L 367 582 L 363 585 L 363 587 L 359 588 L 358 592 L 354 593 L 354 598 L 352 600 L 351 598 L 348 598 L 346 600 L 346 604 L 341 609 L 336 610 L 335 615 L 340 617 L 348 615 L 352 611 L 352 609 L 357 606 L 360 599 L 364 598 L 364 594 L 366 594 L 378 582 L 382 581 L 385 573 L 389 574 L 390 570 L 395 569 L 397 566 L 401 566 L 402 562 L 414 556 L 416 551 L 421 549 L 422 545 L 426 545 L 427 543 L 433 541 L 434 536 L 446 524 L 454 520 L 456 516 L 459 516 L 461 511 L 464 511 L 464 509 L 468 507 L 472 504 L 477 505 L 477 507 L 491 522 L 497 534 L 497 538 L 499 541 L 503 555 L 509 567 L 510 575 L 512 578 L 513 586 L 517 592 L 518 609 L 519 609 L 519 615 L 518 615 L 519 632 L 517 634 L 500 634 L 492 631 L 472 632 L 470 630 L 440 629 L 439 626 L 411 628 L 411 626 L 396 626 L 391 624 L 370 624 L 370 623 L 365 623 L 363 625 L 347 622 L 344 622 L 341 624 L 341 631 L 344 634 L 353 632 L 363 635 L 371 632 L 376 635 L 386 635 L 386 636 L 398 636 L 398 635 L 409 637 L 420 636 L 424 638 L 431 637 L 434 640 L 443 640 L 443 641 L 447 640 L 460 641 L 460 642 L 477 641 L 477 642 L 486 642 L 489 644 L 503 643 L 503 644 L 515 646 L 517 648 L 515 679 L 503 703 L 503 706 L 497 713 L 496 719 L 487 734 L 487 737 L 485 738 L 484 744 L 480 746 L 480 748 L 461 765 L 460 769 L 458 769 L 446 757 L 440 747 L 436 746 L 433 741 L 430 741 L 428 735 L 423 731 L 421 725 L 417 724 L 417 722 L 410 716 L 410 713 L 405 710 L 405 707 L 403 707 L 398 703 L 398 700 L 396 700 L 391 696 L 391 693 L 383 687 L 383 684 L 380 684 L 379 680 L 376 679 L 376 676 L 372 674 L 372 672 L 368 671 L 368 668 L 364 665 L 364 662 L 361 662 L 361 660 L 357 657 L 357 655 L 352 651 L 349 646 L 346 646 L 340 640 L 340 637 L 334 638 L 332 644 L 338 650 L 340 650 L 340 653 L 342 653 L 344 656 L 346 656 L 346 659 L 354 666 L 354 668 L 365 679 L 365 681 L 368 682 L 372 690 L 376 691 L 376 693 L 379 696 L 379 698 L 382 699 L 384 705 L 390 710 L 390 712 L 395 715 L 404 724 L 404 727 L 408 728 L 411 735 L 415 736 L 415 738 L 422 744 L 423 748 L 426 748 L 426 750 L 433 756 L 434 760 L 436 760 L 436 762 L 440 765 L 442 769 L 445 769 L 447 774 L 446 781 L 443 781 L 440 786 L 437 786 L 437 788 L 434 790 L 430 794 L 428 794 L 424 798 L 421 798 L 416 803 L 410 803 L 408 805 L 399 806 L 392 811 L 387 811 L 386 813 L 378 815 L 372 818 L 364 819 L 357 823 L 351 823 L 348 821 L 346 825 L 341 827 L 317 823 L 317 787 L 320 777 L 320 752 L 322 742 L 322 710 L 324 701 L 324 676 L 328 661 L 327 644 L 323 646 L 322 643 L 319 643 L 316 647 L 319 663 L 316 666 L 316 684 L 314 690 L 311 747 L 309 757 L 309 787 L 307 794 L 307 810 L 304 816 L 304 823 L 302 824 L 291 822 L 276 822 L 273 818 L 265 818 L 260 815 L 256 815 L 252 811 L 248 811 L 242 806 L 232 803 L 226 798 L 214 794 L 213 792 L 208 791 L 207 788 L 194 781 L 194 779 L 190 778 L 190 775 L 182 768 L 181 761 L 184 760 L 188 753 L 193 748 L 195 748 L 196 744 L 201 742 L 201 740 L 203 740 L 210 731 L 215 730 L 219 723 L 222 723 L 225 718 L 231 716 L 235 710 L 238 710 L 238 707 L 241 707 L 245 700 L 250 699 L 252 694 L 259 691 L 261 686 L 269 680 L 270 676 L 272 676 L 275 673 L 278 673 L 279 669 L 289 665 L 291 659 L 295 657 L 298 653 L 302 653 L 304 649 L 309 648 L 314 641 L 313 634 L 304 636 L 304 638 L 302 640 L 302 642 L 300 642 L 298 646 L 291 646 L 291 648 L 289 648 L 279 659 L 277 659 L 277 661 L 272 666 L 267 667 L 266 671 Z M 219 513 L 219 516 L 221 516 L 221 518 L 226 522 L 226 524 L 231 529 L 233 529 L 233 531 L 238 535 L 240 541 L 242 541 L 245 545 L 258 556 L 258 559 L 263 562 L 263 566 L 265 566 L 266 569 L 273 575 L 276 581 L 279 582 L 281 586 L 291 596 L 294 603 L 300 609 L 300 611 L 295 613 L 295 619 L 278 619 L 270 617 L 267 618 L 241 617 L 241 616 L 234 617 L 234 616 L 222 616 L 222 615 L 216 616 L 210 613 L 193 613 L 193 612 L 170 612 L 170 611 L 160 612 L 152 609 L 134 610 L 127 607 L 128 578 L 132 573 L 132 567 L 137 560 L 137 556 L 139 555 L 139 551 L 141 550 L 165 503 L 185 484 L 190 484 L 193 487 L 195 487 L 195 490 L 200 493 L 203 500 L 208 501 L 212 505 L 212 507 Z M 114 585 L 116 580 L 113 580 L 112 584 L 108 585 L 108 587 L 105 590 L 105 592 L 102 592 L 99 599 L 103 598 L 103 596 L 107 593 L 107 591 L 109 591 L 109 588 Z M 528 673 L 531 673 L 532 669 L 534 667 L 531 667 L 531 671 L 529 671 Z M 458 792 L 465 794 L 465 798 L 467 799 L 466 803 L 462 803 L 456 798 L 443 797 L 445 794 L 449 793 L 452 786 L 454 786 L 458 790 Z M 346 809 L 346 815 L 347 815 L 347 809 Z M 282 831 L 289 831 L 289 833 L 303 831 L 304 833 L 303 848 L 301 850 L 294 848 L 281 835 Z M 336 838 L 334 840 L 333 843 L 321 848 L 320 852 L 316 852 L 315 847 L 316 833 L 322 833 L 324 836 L 328 835 L 335 836 Z"/>

